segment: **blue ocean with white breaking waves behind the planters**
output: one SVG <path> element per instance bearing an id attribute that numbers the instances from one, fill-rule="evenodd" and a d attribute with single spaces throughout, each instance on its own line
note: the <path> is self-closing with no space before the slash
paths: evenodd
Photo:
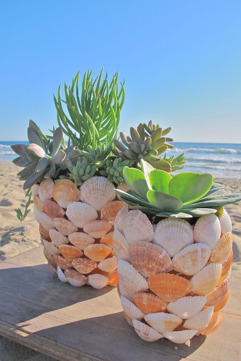
<path id="1" fill-rule="evenodd" d="M 11 144 L 29 143 L 0 141 L 0 162 L 11 162 L 17 157 L 10 148 Z M 172 144 L 175 148 L 169 150 L 167 155 L 176 157 L 185 153 L 188 162 L 183 171 L 208 172 L 218 178 L 241 179 L 241 144 L 184 142 Z"/>

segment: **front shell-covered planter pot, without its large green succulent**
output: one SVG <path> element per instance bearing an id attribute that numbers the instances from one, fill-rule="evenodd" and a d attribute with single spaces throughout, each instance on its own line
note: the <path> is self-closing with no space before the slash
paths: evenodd
<path id="1" fill-rule="evenodd" d="M 232 224 L 224 210 L 190 225 L 165 218 L 152 225 L 124 206 L 115 219 L 113 247 L 118 293 L 127 322 L 146 341 L 185 343 L 220 325 L 229 296 Z"/>

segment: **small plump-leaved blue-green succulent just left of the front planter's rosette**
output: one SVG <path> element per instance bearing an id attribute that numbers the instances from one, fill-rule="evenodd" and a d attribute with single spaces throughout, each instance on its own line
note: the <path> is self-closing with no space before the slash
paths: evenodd
<path id="1" fill-rule="evenodd" d="M 100 174 L 107 177 L 110 182 L 121 184 L 124 182 L 123 168 L 131 165 L 132 161 L 123 160 L 121 157 L 109 157 L 105 161 L 104 169 L 100 170 Z"/>

